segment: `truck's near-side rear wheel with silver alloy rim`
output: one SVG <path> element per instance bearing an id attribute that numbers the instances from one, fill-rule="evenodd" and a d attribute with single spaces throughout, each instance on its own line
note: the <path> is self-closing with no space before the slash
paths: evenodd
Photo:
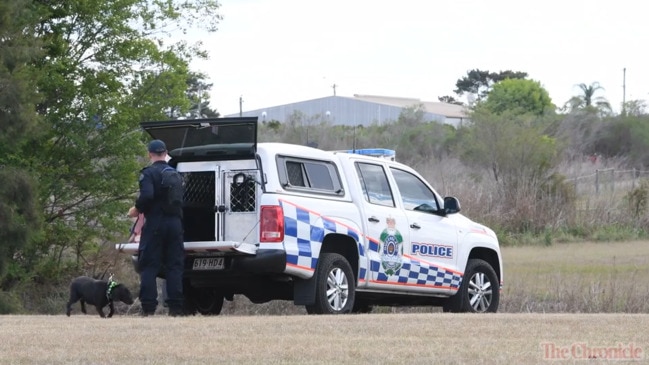
<path id="1" fill-rule="evenodd" d="M 315 303 L 307 305 L 309 314 L 351 313 L 356 280 L 347 260 L 336 253 L 320 256 L 315 274 Z"/>

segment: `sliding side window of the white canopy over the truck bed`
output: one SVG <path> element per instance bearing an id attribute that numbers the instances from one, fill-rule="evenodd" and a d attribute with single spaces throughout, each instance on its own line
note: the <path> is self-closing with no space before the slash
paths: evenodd
<path id="1" fill-rule="evenodd" d="M 340 176 L 330 161 L 278 156 L 280 182 L 285 189 L 312 190 L 318 193 L 343 193 Z"/>

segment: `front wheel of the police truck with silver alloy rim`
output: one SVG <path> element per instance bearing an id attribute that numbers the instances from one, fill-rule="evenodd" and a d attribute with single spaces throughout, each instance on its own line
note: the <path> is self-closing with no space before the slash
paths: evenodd
<path id="1" fill-rule="evenodd" d="M 500 285 L 494 269 L 484 260 L 470 259 L 458 292 L 444 303 L 444 312 L 495 313 Z"/>

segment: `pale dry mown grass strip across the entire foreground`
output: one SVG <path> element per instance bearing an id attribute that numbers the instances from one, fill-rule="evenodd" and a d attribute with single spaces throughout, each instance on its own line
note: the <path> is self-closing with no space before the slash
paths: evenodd
<path id="1" fill-rule="evenodd" d="M 642 314 L 60 315 L 1 323 L 3 364 L 552 363 L 544 343 L 631 344 L 649 357 Z"/>

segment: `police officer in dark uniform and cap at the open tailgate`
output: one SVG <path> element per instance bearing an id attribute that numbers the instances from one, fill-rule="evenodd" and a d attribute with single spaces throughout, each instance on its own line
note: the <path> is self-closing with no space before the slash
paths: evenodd
<path id="1" fill-rule="evenodd" d="M 165 197 L 162 193 L 162 170 L 168 167 L 167 146 L 159 139 L 148 145 L 151 165 L 140 172 L 140 194 L 129 216 L 144 213 L 138 264 L 140 268 L 140 302 L 142 315 L 153 315 L 158 306 L 156 277 L 164 270 L 169 315 L 183 314 L 184 246 L 182 212 L 164 213 Z"/>

